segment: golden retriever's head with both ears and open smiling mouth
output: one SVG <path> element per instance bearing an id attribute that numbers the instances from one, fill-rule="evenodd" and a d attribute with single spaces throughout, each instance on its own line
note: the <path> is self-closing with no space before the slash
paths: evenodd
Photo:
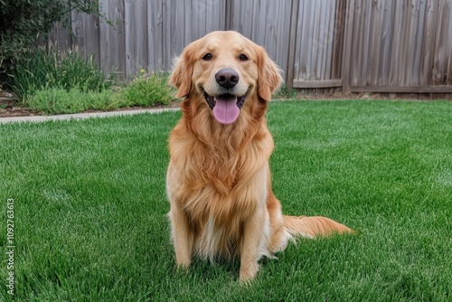
<path id="1" fill-rule="evenodd" d="M 268 101 L 282 82 L 267 52 L 236 32 L 213 32 L 189 44 L 169 79 L 177 97 L 200 96 L 221 124 L 231 124 L 250 98 Z"/>

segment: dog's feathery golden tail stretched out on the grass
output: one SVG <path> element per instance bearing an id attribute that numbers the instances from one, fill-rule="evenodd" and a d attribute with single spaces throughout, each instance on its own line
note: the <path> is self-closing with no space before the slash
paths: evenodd
<path id="1" fill-rule="evenodd" d="M 283 216 L 284 226 L 292 237 L 315 238 L 328 236 L 334 233 L 354 233 L 352 229 L 322 216 Z"/>

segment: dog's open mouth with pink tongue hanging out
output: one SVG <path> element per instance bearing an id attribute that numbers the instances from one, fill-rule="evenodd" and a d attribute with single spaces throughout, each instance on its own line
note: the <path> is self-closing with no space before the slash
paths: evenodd
<path id="1" fill-rule="evenodd" d="M 239 118 L 240 109 L 245 103 L 248 93 L 238 97 L 231 93 L 223 93 L 217 96 L 210 96 L 203 90 L 204 98 L 207 100 L 209 108 L 212 109 L 213 117 L 221 124 L 232 124 Z"/>

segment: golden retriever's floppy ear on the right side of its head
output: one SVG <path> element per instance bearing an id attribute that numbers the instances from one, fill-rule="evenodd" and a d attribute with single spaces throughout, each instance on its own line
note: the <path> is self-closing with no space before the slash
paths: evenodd
<path id="1" fill-rule="evenodd" d="M 265 100 L 270 100 L 273 92 L 278 90 L 282 84 L 282 77 L 280 70 L 269 57 L 264 48 L 258 46 L 256 49 L 258 54 L 258 93 L 259 97 Z"/>

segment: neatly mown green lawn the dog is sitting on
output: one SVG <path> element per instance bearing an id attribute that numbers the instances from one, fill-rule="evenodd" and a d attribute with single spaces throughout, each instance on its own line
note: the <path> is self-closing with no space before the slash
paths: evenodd
<path id="1" fill-rule="evenodd" d="M 287 214 L 356 235 L 290 244 L 262 260 L 194 260 L 177 272 L 165 197 L 166 138 L 179 112 L 0 125 L 0 246 L 14 199 L 14 270 L 0 300 L 450 301 L 452 103 L 272 103 L 273 189 Z"/>

